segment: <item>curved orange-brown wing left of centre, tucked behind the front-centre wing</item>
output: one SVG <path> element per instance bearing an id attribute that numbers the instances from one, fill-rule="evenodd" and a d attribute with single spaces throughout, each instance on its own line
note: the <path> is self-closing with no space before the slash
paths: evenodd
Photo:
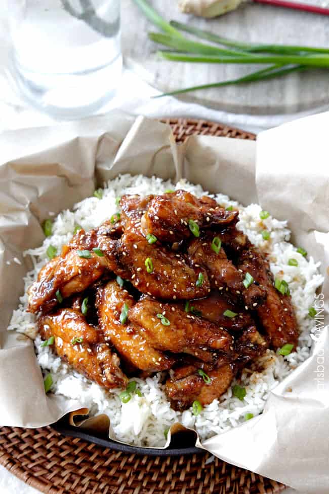
<path id="1" fill-rule="evenodd" d="M 105 337 L 112 342 L 120 355 L 138 369 L 154 372 L 169 369 L 175 362 L 173 357 L 155 350 L 146 341 L 137 324 L 129 320 L 124 324 L 120 322 L 124 304 L 130 309 L 134 303 L 134 298 L 127 290 L 120 288 L 116 281 L 99 289 L 96 305 Z"/>

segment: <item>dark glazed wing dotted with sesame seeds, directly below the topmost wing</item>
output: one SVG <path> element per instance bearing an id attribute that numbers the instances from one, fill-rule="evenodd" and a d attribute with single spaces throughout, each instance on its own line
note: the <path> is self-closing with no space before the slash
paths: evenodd
<path id="1" fill-rule="evenodd" d="M 142 293 L 175 300 L 204 297 L 210 290 L 203 268 L 190 266 L 185 255 L 151 245 L 132 231 L 118 241 L 103 238 L 100 248 L 109 269 L 130 280 Z"/>

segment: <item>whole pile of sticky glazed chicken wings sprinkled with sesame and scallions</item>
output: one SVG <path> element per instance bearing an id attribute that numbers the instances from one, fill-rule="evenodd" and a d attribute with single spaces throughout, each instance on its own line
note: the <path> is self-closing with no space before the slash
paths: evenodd
<path id="1" fill-rule="evenodd" d="M 219 398 L 268 348 L 296 347 L 291 297 L 236 228 L 237 210 L 183 190 L 119 205 L 29 288 L 40 335 L 62 359 L 107 389 L 167 371 L 167 397 L 183 410 Z"/>

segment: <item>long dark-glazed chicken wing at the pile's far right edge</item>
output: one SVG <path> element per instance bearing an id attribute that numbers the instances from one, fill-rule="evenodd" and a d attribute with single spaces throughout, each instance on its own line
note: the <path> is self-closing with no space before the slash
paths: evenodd
<path id="1" fill-rule="evenodd" d="M 287 343 L 296 348 L 299 332 L 292 300 L 290 295 L 282 295 L 274 287 L 267 259 L 250 247 L 241 253 L 239 268 L 265 288 L 266 300 L 257 307 L 257 314 L 274 349 Z"/>

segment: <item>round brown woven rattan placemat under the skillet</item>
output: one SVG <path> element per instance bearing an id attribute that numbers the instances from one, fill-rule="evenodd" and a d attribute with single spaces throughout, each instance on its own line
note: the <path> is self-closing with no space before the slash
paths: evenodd
<path id="1" fill-rule="evenodd" d="M 191 119 L 167 119 L 176 139 L 203 134 L 255 139 L 254 134 Z M 102 448 L 51 427 L 0 429 L 0 464 L 47 494 L 274 494 L 284 486 L 210 458 L 208 453 L 149 457 Z"/>

